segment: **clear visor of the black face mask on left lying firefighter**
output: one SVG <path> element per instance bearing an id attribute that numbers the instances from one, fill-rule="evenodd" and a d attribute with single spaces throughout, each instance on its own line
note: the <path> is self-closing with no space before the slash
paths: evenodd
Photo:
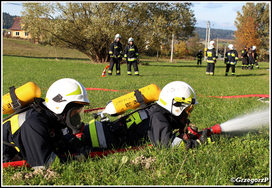
<path id="1" fill-rule="evenodd" d="M 67 114 L 71 128 L 81 128 L 83 122 L 83 107 L 74 107 Z"/>

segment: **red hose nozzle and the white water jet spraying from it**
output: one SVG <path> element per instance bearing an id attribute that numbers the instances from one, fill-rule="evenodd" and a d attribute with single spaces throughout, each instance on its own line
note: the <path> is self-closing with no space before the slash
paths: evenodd
<path id="1" fill-rule="evenodd" d="M 251 114 L 243 115 L 238 118 L 231 119 L 227 122 L 216 124 L 209 129 L 207 136 L 212 134 L 220 134 L 222 132 L 245 132 L 251 129 L 258 129 L 263 126 L 269 125 L 270 112 L 269 109 L 262 110 L 259 112 L 253 112 Z M 199 138 L 203 132 L 198 132 L 191 127 L 188 130 L 193 134 L 181 133 L 183 139 L 196 139 Z"/>

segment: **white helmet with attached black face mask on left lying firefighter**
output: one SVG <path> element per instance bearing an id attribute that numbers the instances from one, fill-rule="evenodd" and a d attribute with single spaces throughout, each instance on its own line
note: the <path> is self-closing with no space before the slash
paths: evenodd
<path id="1" fill-rule="evenodd" d="M 54 82 L 46 93 L 45 102 L 49 110 L 54 112 L 63 128 L 77 140 L 83 140 L 83 106 L 90 105 L 85 87 L 71 78 L 63 78 Z"/>

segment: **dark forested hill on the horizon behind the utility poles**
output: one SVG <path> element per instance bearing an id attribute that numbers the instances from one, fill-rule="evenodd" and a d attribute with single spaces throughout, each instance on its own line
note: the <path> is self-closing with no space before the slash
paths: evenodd
<path id="1" fill-rule="evenodd" d="M 206 39 L 207 28 L 196 27 L 195 32 L 199 34 L 200 39 Z M 208 28 L 209 32 L 209 28 Z M 235 39 L 234 31 L 228 29 L 212 29 L 210 28 L 210 39 Z"/>

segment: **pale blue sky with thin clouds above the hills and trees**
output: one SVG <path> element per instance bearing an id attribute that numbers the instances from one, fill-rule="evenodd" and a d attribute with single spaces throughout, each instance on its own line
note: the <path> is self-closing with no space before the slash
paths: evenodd
<path id="1" fill-rule="evenodd" d="M 270 1 L 264 2 L 270 3 Z M 21 16 L 22 2 L 5 1 L 1 3 L 2 13 L 9 13 L 11 16 Z M 211 29 L 236 31 L 237 28 L 234 25 L 234 21 L 237 17 L 237 11 L 242 12 L 242 6 L 246 4 L 246 1 L 192 1 L 192 3 L 194 6 L 191 9 L 194 11 L 197 20 L 196 27 L 207 28 L 207 21 L 209 21 Z"/>

